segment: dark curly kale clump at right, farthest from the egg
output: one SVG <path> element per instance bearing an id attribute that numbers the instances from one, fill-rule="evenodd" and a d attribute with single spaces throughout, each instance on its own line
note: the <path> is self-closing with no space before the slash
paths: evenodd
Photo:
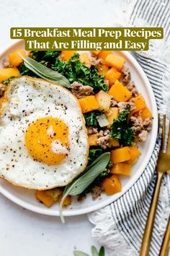
<path id="1" fill-rule="evenodd" d="M 110 135 L 119 140 L 120 145 L 132 145 L 135 135 L 133 129 L 128 125 L 128 115 L 130 111 L 125 109 L 112 124 Z"/>

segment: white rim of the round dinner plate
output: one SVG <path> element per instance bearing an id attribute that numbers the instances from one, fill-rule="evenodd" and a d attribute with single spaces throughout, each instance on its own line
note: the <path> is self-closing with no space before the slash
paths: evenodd
<path id="1" fill-rule="evenodd" d="M 1 52 L 0 59 L 3 55 L 7 54 L 9 51 L 12 50 L 12 48 L 16 47 L 20 43 L 23 43 L 23 40 L 18 40 L 16 43 L 13 43 L 12 45 L 8 46 L 4 51 Z M 153 89 L 148 80 L 148 77 L 146 76 L 145 72 L 143 71 L 143 68 L 140 67 L 140 64 L 132 56 L 132 54 L 130 54 L 128 51 L 120 51 L 120 52 L 122 52 L 122 54 L 127 57 L 128 61 L 133 63 L 134 67 L 138 70 L 138 72 L 140 73 L 140 77 L 144 81 L 144 84 L 148 90 L 148 94 L 151 97 L 151 106 L 153 108 L 153 110 L 152 110 L 152 114 L 153 114 L 152 129 L 154 129 L 155 132 L 153 132 L 153 135 L 151 137 L 151 146 L 150 146 L 150 150 L 148 151 L 149 153 L 148 153 L 147 157 L 145 158 L 145 161 L 143 161 L 143 165 L 142 165 L 140 174 L 138 176 L 132 177 L 131 182 L 128 185 L 126 185 L 125 191 L 114 195 L 114 197 L 115 197 L 114 199 L 112 199 L 112 196 L 108 197 L 107 200 L 104 200 L 103 202 L 99 202 L 98 205 L 94 205 L 94 206 L 92 205 L 92 206 L 89 206 L 86 208 L 80 208 L 80 209 L 76 209 L 76 210 L 73 210 L 73 209 L 63 210 L 63 216 L 79 216 L 79 215 L 82 215 L 85 213 L 91 213 L 94 210 L 99 210 L 99 209 L 104 208 L 105 206 L 111 204 L 112 202 L 115 202 L 118 198 L 120 198 L 122 195 L 124 195 L 126 192 L 128 192 L 128 190 L 131 187 L 133 187 L 135 182 L 137 182 L 138 179 L 140 179 L 140 176 L 143 174 L 143 171 L 145 170 L 146 166 L 148 165 L 148 162 L 149 162 L 151 155 L 153 153 L 153 150 L 155 148 L 157 131 L 158 131 L 158 119 L 156 118 L 158 116 L 158 109 L 156 106 L 156 98 L 153 93 Z M 46 216 L 59 216 L 59 210 L 56 210 L 56 209 L 53 210 L 52 208 L 39 208 L 36 205 L 32 205 L 30 202 L 25 202 L 24 200 L 19 199 L 17 196 L 12 195 L 12 192 L 9 192 L 7 189 L 2 187 L 1 184 L 0 184 L 0 192 L 2 195 L 4 195 L 5 197 L 7 197 L 9 200 L 16 203 L 17 205 L 21 206 L 22 208 L 26 208 L 27 210 L 31 210 L 32 212 L 40 213 L 40 214 L 43 214 Z"/>

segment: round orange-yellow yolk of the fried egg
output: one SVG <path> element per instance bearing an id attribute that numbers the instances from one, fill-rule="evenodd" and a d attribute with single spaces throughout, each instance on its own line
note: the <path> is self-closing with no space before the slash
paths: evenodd
<path id="1" fill-rule="evenodd" d="M 33 121 L 25 134 L 25 145 L 36 161 L 56 165 L 68 155 L 68 126 L 58 118 Z"/>

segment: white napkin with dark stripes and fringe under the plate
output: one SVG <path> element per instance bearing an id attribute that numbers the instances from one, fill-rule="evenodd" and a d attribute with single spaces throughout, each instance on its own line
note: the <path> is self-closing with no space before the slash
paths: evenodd
<path id="1" fill-rule="evenodd" d="M 170 106 L 170 1 L 123 1 L 125 27 L 164 27 L 164 40 L 151 42 L 150 50 L 138 52 L 138 62 L 151 82 L 159 111 Z M 121 9 L 121 8 L 120 8 Z M 117 11 L 120 13 L 119 11 Z M 128 23 L 127 23 L 128 21 Z M 148 166 L 125 195 L 111 205 L 89 214 L 92 235 L 109 249 L 109 256 L 139 254 L 148 209 L 156 182 L 155 168 L 160 149 L 157 140 Z M 158 256 L 170 213 L 170 178 L 164 175 L 153 228 L 150 256 Z"/>

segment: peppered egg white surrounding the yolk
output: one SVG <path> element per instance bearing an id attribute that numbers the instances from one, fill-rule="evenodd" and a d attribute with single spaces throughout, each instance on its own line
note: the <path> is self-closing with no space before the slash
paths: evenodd
<path id="1" fill-rule="evenodd" d="M 25 147 L 28 124 L 45 116 L 68 125 L 68 158 L 56 166 L 34 161 Z M 19 187 L 66 186 L 86 167 L 89 143 L 81 108 L 69 90 L 53 82 L 32 77 L 12 80 L 1 109 L 0 137 L 0 176 Z"/>

